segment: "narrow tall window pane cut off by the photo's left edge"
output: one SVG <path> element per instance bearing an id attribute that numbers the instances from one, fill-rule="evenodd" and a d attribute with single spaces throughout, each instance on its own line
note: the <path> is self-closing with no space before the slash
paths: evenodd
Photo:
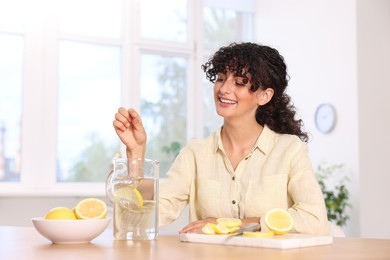
<path id="1" fill-rule="evenodd" d="M 0 181 L 20 180 L 23 37 L 0 34 Z"/>

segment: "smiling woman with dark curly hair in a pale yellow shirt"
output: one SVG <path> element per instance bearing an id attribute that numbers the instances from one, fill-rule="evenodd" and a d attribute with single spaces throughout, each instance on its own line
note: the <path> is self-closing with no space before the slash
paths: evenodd
<path id="1" fill-rule="evenodd" d="M 283 57 L 268 46 L 233 43 L 202 66 L 214 83 L 223 117 L 219 131 L 190 141 L 160 186 L 160 224 L 177 219 L 187 204 L 190 224 L 199 232 L 220 217 L 260 222 L 272 208 L 288 210 L 293 231 L 328 233 L 324 199 L 308 157 L 308 136 L 285 93 Z M 138 113 L 120 108 L 114 128 L 128 158 L 144 157 L 146 134 Z"/>

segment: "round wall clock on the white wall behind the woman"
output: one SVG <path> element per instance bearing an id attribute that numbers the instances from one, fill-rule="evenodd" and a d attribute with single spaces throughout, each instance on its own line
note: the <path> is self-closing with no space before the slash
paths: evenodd
<path id="1" fill-rule="evenodd" d="M 318 131 L 328 134 L 336 125 L 336 109 L 329 103 L 321 104 L 316 109 L 314 120 Z"/>

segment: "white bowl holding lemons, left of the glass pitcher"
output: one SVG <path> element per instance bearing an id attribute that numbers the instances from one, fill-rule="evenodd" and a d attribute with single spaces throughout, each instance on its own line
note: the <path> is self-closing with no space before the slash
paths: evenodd
<path id="1" fill-rule="evenodd" d="M 55 244 L 89 243 L 107 228 L 110 218 L 87 220 L 31 219 L 35 229 Z"/>

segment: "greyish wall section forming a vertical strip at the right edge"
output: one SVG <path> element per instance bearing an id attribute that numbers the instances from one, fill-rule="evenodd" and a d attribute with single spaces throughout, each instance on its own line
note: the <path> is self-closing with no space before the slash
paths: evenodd
<path id="1" fill-rule="evenodd" d="M 390 238 L 390 1 L 357 1 L 360 234 Z"/>

